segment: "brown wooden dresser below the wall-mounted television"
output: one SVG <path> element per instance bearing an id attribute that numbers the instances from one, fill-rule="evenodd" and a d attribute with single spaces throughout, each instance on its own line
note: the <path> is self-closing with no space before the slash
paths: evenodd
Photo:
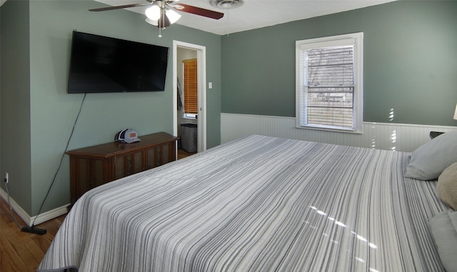
<path id="1" fill-rule="evenodd" d="M 91 188 L 176 160 L 179 137 L 159 132 L 139 138 L 136 143 L 113 141 L 67 151 L 71 205 Z"/>

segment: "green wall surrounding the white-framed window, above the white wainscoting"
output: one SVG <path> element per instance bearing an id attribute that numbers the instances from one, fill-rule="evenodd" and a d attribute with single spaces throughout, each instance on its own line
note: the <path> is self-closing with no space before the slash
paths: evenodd
<path id="1" fill-rule="evenodd" d="M 456 14 L 395 1 L 223 36 L 222 112 L 294 117 L 295 41 L 363 32 L 363 121 L 456 126 Z"/>

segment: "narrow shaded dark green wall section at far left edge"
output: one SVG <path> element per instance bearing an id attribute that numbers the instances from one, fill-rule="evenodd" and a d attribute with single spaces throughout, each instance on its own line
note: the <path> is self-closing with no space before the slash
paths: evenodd
<path id="1" fill-rule="evenodd" d="M 9 188 L 14 200 L 30 211 L 30 40 L 27 18 L 27 1 L 12 0 L 0 8 L 0 173 L 3 181 L 5 171 L 9 172 Z M 3 182 L 1 188 L 6 191 Z"/>

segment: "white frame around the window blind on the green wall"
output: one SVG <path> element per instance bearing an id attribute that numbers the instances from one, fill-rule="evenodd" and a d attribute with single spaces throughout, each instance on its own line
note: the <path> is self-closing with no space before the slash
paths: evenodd
<path id="1" fill-rule="evenodd" d="M 306 124 L 306 68 L 303 51 L 348 45 L 353 45 L 354 56 L 353 128 Z M 363 133 L 363 32 L 296 41 L 296 128 Z"/>

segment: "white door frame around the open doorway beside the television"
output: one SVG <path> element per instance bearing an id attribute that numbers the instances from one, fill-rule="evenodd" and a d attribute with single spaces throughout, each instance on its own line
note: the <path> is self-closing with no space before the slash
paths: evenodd
<path id="1" fill-rule="evenodd" d="M 173 134 L 178 135 L 178 95 L 176 90 L 178 85 L 178 71 L 176 61 L 178 61 L 178 48 L 194 49 L 197 51 L 197 82 L 199 91 L 199 118 L 197 119 L 197 151 L 206 150 L 206 47 L 196 44 L 189 44 L 184 41 L 173 41 Z"/>

